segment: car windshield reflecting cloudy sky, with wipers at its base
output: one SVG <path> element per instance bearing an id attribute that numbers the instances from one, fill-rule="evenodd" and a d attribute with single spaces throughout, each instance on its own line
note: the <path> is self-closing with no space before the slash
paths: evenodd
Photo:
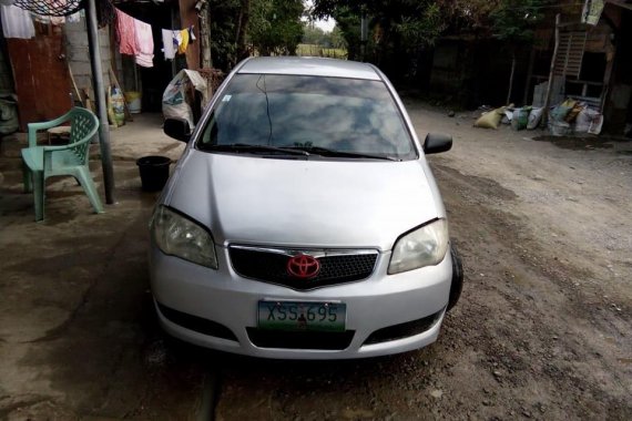
<path id="1" fill-rule="evenodd" d="M 345 158 L 417 156 L 386 84 L 343 78 L 235 75 L 197 147 L 242 153 L 251 145 L 266 146 L 251 147 L 255 153 L 293 148 Z"/>

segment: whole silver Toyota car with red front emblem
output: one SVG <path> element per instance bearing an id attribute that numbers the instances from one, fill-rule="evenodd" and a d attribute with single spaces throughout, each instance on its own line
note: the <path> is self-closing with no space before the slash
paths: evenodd
<path id="1" fill-rule="evenodd" d="M 226 78 L 151 222 L 162 327 L 198 346 L 283 359 L 389 355 L 434 342 L 461 290 L 421 144 L 375 66 L 257 58 Z"/>

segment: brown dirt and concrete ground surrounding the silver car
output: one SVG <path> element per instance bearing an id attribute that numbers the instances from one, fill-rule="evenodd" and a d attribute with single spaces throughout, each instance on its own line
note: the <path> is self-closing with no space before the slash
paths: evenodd
<path id="1" fill-rule="evenodd" d="M 0 419 L 632 419 L 632 142 L 534 141 L 407 106 L 420 136 L 455 138 L 429 160 L 466 284 L 436 343 L 369 360 L 170 340 L 147 292 L 155 195 L 140 192 L 137 151 L 115 148 L 120 204 L 105 216 L 53 192 L 44 224 L 3 153 Z"/>

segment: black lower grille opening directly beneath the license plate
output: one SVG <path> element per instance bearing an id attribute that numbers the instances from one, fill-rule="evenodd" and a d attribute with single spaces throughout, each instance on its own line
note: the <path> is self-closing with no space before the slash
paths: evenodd
<path id="1" fill-rule="evenodd" d="M 342 351 L 351 343 L 355 330 L 344 332 L 284 331 L 246 328 L 248 338 L 258 348 L 322 349 Z"/>

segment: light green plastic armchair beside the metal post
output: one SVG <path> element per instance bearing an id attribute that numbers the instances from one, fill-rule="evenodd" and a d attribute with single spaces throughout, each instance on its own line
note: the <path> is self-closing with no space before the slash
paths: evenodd
<path id="1" fill-rule="evenodd" d="M 38 146 L 38 131 L 70 122 L 70 143 Z M 33 192 L 35 220 L 44 218 L 45 181 L 55 175 L 73 176 L 83 187 L 94 212 L 103 213 L 96 187 L 88 167 L 90 141 L 99 129 L 99 120 L 89 110 L 74 107 L 59 119 L 29 124 L 29 147 L 22 150 L 24 192 Z"/>

